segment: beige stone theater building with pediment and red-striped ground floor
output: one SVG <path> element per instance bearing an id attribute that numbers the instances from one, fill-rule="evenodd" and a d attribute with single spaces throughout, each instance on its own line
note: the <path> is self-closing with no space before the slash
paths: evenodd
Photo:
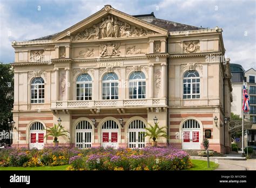
<path id="1" fill-rule="evenodd" d="M 215 58 L 225 54 L 221 33 L 105 5 L 62 32 L 14 41 L 14 146 L 51 145 L 44 129 L 60 117 L 70 134 L 59 145 L 143 148 L 151 141 L 140 133 L 157 117 L 169 135 L 159 145 L 203 149 L 206 136 L 210 149 L 228 152 L 232 88 L 229 61 Z"/>

